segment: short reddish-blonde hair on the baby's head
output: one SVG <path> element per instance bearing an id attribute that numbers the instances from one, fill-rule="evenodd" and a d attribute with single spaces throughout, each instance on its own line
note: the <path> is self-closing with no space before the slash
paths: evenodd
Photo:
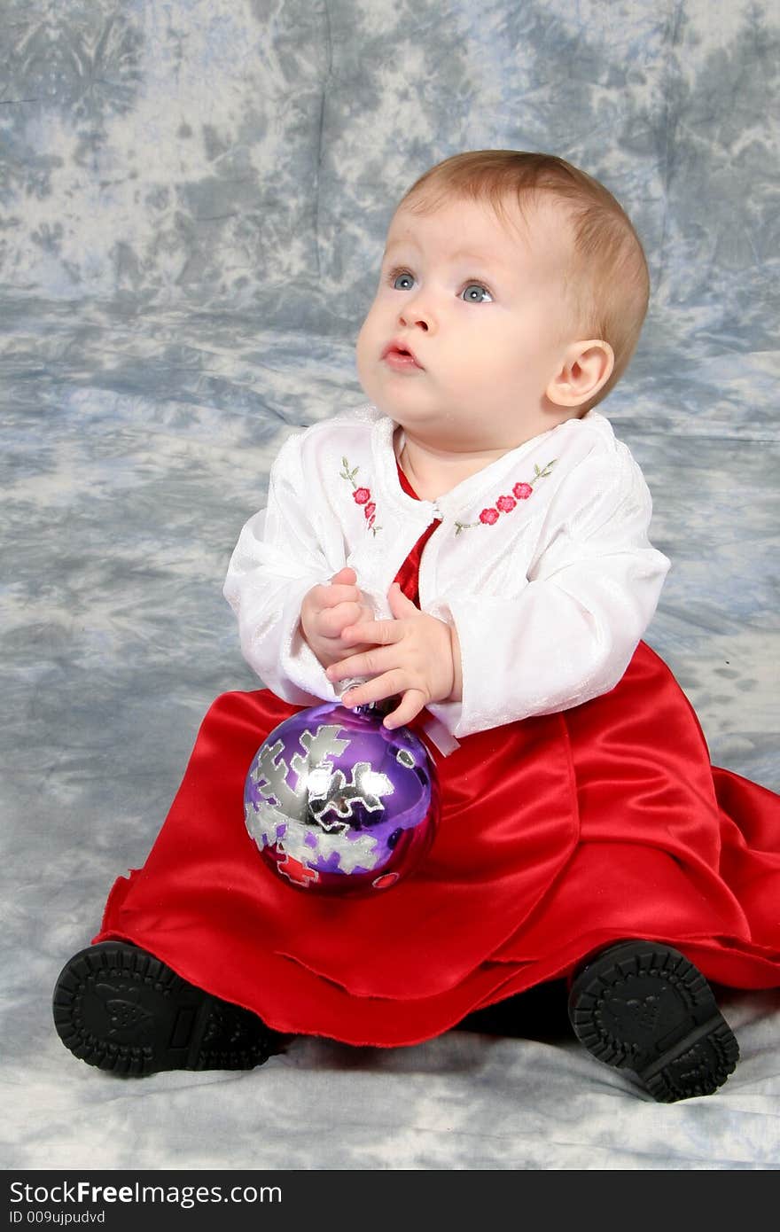
<path id="1" fill-rule="evenodd" d="M 488 201 L 505 218 L 506 201 L 526 217 L 529 205 L 561 203 L 572 225 L 572 271 L 567 290 L 583 338 L 599 338 L 615 352 L 615 367 L 583 413 L 606 397 L 637 345 L 647 314 L 649 275 L 640 237 L 622 206 L 598 180 L 555 154 L 471 150 L 437 163 L 416 180 L 400 205 L 435 209 L 461 196 Z"/>

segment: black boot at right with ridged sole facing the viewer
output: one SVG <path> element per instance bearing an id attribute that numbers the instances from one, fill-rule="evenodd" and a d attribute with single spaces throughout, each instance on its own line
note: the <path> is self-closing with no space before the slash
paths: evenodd
<path id="1" fill-rule="evenodd" d="M 599 1061 L 632 1069 L 653 1099 L 711 1095 L 739 1047 L 700 971 L 672 946 L 621 941 L 575 973 L 569 1019 Z"/>

